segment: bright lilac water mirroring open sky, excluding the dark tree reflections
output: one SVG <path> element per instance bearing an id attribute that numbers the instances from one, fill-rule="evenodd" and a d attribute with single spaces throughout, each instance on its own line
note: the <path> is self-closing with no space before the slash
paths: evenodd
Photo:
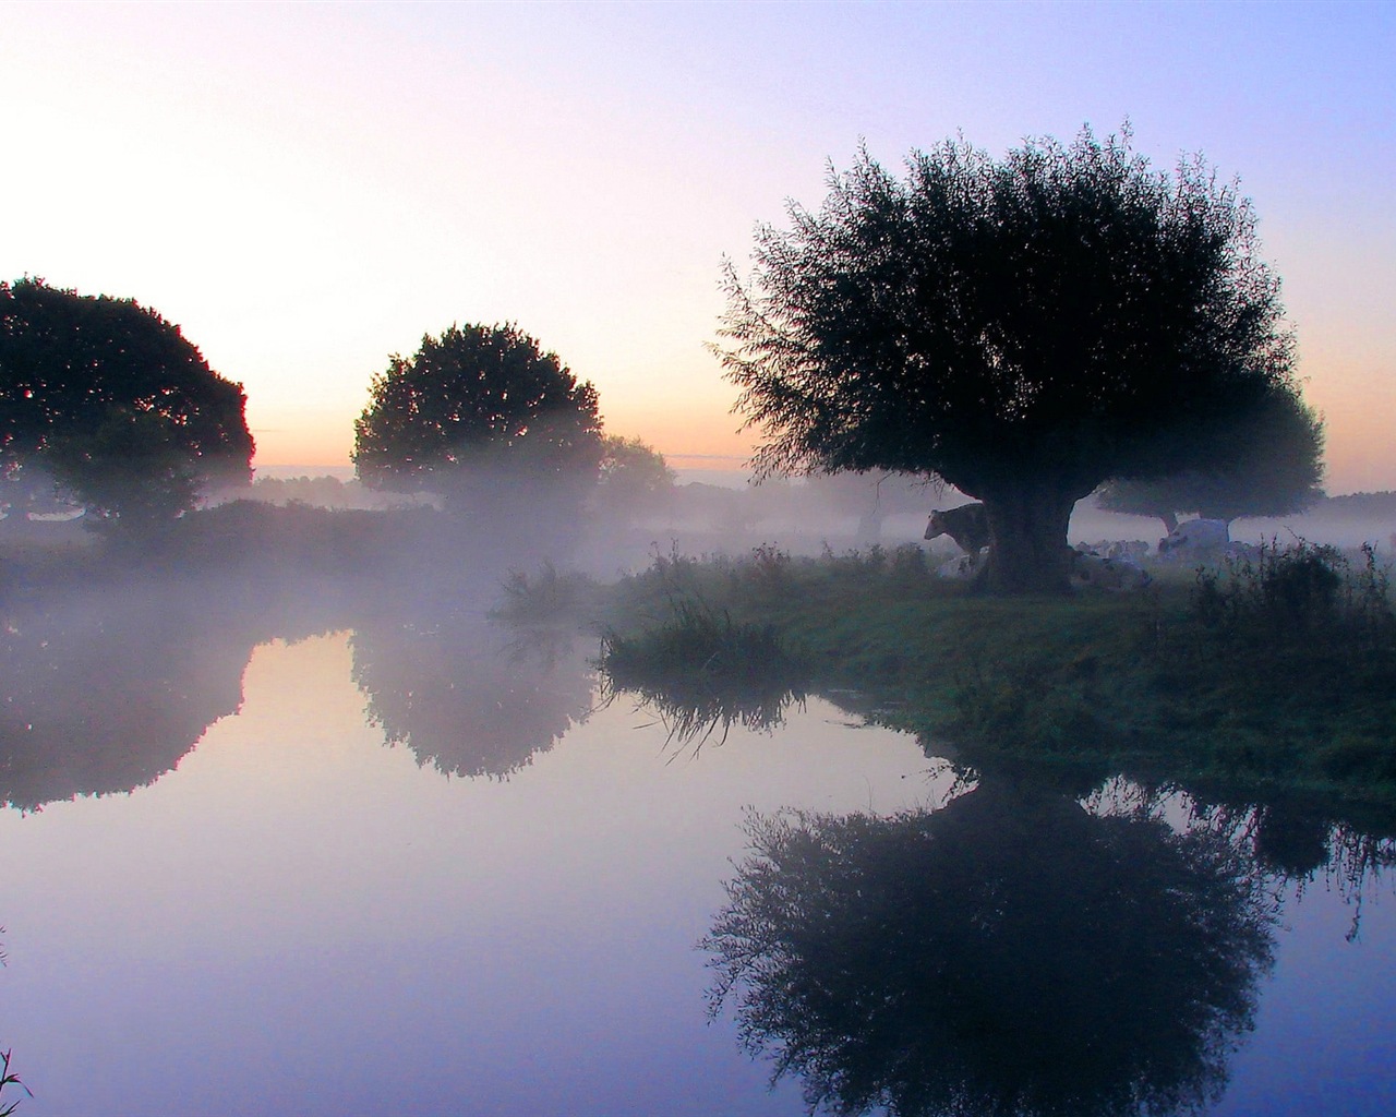
<path id="1" fill-rule="evenodd" d="M 705 1019 L 695 948 L 744 810 L 891 814 L 949 790 L 821 701 L 673 757 L 624 698 L 505 779 L 366 725 L 348 635 L 253 653 L 242 711 L 130 794 L 0 813 L 0 1044 L 21 1117 L 797 1114 Z M 1396 1111 L 1396 927 L 1287 902 L 1219 1113 Z M 8 1095 L 6 1095 L 8 1100 Z"/>

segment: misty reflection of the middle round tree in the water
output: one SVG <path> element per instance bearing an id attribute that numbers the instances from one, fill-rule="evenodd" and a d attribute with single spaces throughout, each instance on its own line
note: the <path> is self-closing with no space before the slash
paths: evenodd
<path id="1" fill-rule="evenodd" d="M 477 613 L 364 619 L 352 645 L 387 743 L 448 775 L 508 775 L 591 709 L 591 672 L 570 641 L 511 639 Z"/>

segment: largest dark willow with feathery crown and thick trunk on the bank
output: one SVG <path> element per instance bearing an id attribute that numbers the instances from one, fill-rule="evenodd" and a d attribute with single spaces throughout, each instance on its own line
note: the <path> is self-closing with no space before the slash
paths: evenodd
<path id="1" fill-rule="evenodd" d="M 905 179 L 860 152 L 789 218 L 750 279 L 727 265 L 718 346 L 758 473 L 935 475 L 984 503 L 995 591 L 1067 591 L 1076 500 L 1178 472 L 1293 385 L 1249 202 L 1128 133 L 946 141 Z"/>

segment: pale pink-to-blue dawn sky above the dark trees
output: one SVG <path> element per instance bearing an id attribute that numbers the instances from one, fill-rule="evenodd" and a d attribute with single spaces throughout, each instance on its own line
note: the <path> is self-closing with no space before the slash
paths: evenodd
<path id="1" fill-rule="evenodd" d="M 515 323 L 609 433 L 741 469 L 722 261 L 859 144 L 1128 119 L 1259 215 L 1328 490 L 1396 489 L 1396 4 L 6 4 L 0 278 L 133 297 L 345 466 L 369 384 Z"/>

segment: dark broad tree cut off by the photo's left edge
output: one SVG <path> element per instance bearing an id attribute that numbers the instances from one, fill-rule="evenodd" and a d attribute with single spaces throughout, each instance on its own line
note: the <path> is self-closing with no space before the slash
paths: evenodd
<path id="1" fill-rule="evenodd" d="M 0 283 L 0 479 L 99 518 L 170 519 L 251 479 L 247 398 L 154 310 L 42 279 Z M 40 479 L 38 483 L 35 478 Z"/>

